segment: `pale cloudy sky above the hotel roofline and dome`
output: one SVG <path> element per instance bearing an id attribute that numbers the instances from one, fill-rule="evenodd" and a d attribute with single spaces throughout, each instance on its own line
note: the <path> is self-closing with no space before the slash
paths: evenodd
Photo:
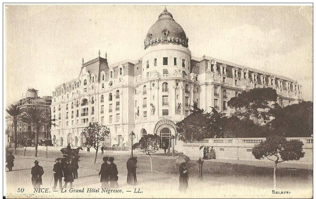
<path id="1" fill-rule="evenodd" d="M 51 96 L 82 64 L 137 60 L 165 5 L 6 5 L 6 104 L 27 88 Z M 210 56 L 293 78 L 313 100 L 313 7 L 167 5 L 193 57 Z"/>

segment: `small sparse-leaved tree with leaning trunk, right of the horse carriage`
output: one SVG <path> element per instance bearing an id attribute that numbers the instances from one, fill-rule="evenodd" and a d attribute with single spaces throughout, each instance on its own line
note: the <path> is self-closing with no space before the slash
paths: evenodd
<path id="1" fill-rule="evenodd" d="M 90 122 L 88 127 L 82 132 L 86 136 L 86 143 L 95 149 L 94 164 L 97 160 L 99 146 L 104 142 L 105 137 L 110 133 L 110 129 L 98 122 Z"/>

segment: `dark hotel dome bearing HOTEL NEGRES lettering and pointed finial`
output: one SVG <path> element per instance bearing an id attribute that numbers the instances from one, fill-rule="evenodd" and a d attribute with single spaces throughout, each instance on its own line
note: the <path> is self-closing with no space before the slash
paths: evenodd
<path id="1" fill-rule="evenodd" d="M 166 8 L 159 15 L 157 22 L 149 28 L 144 40 L 145 49 L 160 42 L 178 43 L 188 47 L 188 38 L 183 28 L 174 21 Z"/>

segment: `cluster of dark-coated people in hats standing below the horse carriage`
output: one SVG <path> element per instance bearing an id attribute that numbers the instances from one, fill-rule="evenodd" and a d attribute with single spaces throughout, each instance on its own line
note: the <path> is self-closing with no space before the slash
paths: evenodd
<path id="1" fill-rule="evenodd" d="M 72 183 L 74 179 L 78 179 L 78 161 L 79 159 L 75 156 L 67 157 L 67 155 L 63 155 L 63 158 L 57 158 L 55 160 L 55 164 L 53 167 L 53 177 L 54 177 L 54 186 L 53 190 L 56 190 L 57 182 L 59 183 L 59 189 L 62 186 L 62 178 L 64 177 L 64 188 L 67 188 L 67 184 L 70 183 L 70 188 L 72 188 Z"/>

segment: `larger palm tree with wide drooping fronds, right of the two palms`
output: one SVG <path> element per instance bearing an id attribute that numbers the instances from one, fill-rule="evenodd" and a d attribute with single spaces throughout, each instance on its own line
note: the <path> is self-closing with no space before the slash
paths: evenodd
<path id="1" fill-rule="evenodd" d="M 55 119 L 51 119 L 50 111 L 38 107 L 28 107 L 22 114 L 21 121 L 35 129 L 35 157 L 37 157 L 40 128 L 43 128 L 46 124 L 52 124 Z"/>

